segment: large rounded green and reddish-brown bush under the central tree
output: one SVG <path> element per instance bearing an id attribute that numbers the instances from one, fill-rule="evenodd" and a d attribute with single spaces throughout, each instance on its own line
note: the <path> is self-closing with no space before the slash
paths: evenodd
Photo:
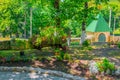
<path id="1" fill-rule="evenodd" d="M 43 47 L 63 48 L 67 42 L 66 34 L 60 28 L 47 27 L 41 30 L 40 35 L 35 35 L 29 40 L 32 48 Z"/>

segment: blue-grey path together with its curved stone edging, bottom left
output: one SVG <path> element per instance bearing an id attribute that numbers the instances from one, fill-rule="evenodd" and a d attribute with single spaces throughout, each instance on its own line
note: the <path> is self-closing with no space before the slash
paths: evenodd
<path id="1" fill-rule="evenodd" d="M 0 80 L 85 80 L 85 78 L 41 68 L 1 66 Z"/>

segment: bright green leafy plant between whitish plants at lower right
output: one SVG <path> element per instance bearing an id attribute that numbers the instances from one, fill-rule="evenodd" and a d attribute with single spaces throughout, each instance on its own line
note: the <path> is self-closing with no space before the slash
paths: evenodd
<path id="1" fill-rule="evenodd" d="M 115 71 L 115 65 L 106 58 L 101 62 L 97 62 L 97 67 L 100 72 L 107 72 L 107 70 L 109 70 L 109 73 L 112 74 L 112 72 Z"/>

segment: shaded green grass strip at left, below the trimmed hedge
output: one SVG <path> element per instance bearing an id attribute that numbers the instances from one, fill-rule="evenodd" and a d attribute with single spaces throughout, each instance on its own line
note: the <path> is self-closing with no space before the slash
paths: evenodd
<path id="1" fill-rule="evenodd" d="M 19 50 L 2 50 L 0 51 L 0 62 L 5 59 L 7 62 L 11 62 L 11 59 L 14 61 L 32 61 L 32 60 L 41 60 L 45 58 L 50 60 L 53 57 L 53 53 L 49 51 L 39 51 L 36 49 L 24 50 L 25 56 L 20 56 Z"/>

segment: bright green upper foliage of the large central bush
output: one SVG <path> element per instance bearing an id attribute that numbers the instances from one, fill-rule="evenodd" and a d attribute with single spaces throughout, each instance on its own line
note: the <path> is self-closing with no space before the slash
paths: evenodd
<path id="1" fill-rule="evenodd" d="M 40 31 L 40 37 L 45 38 L 48 40 L 48 43 L 53 44 L 61 43 L 62 39 L 66 39 L 67 35 L 61 28 L 55 27 L 46 27 Z"/>

